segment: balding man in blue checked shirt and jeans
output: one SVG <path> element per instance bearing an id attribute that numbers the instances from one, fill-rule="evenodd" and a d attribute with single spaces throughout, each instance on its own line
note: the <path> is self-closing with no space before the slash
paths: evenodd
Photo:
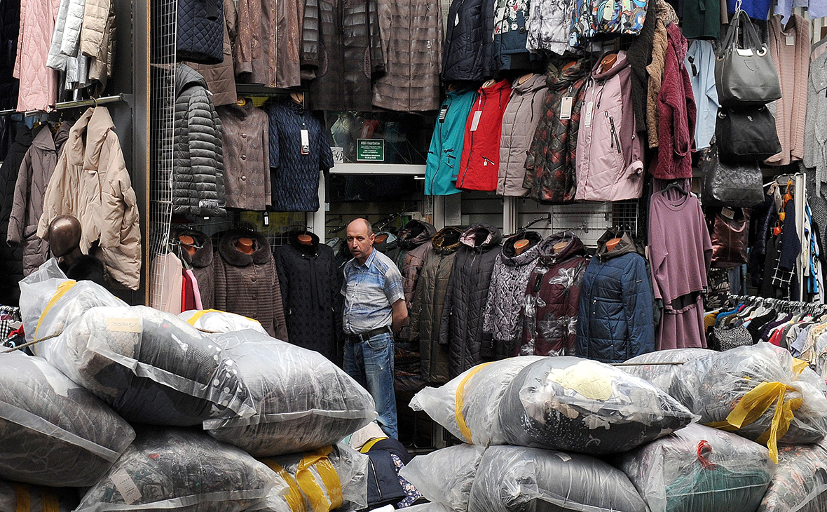
<path id="1" fill-rule="evenodd" d="M 408 318 L 402 275 L 394 262 L 375 251 L 373 227 L 364 218 L 347 226 L 353 259 L 344 266 L 342 325 L 345 371 L 373 396 L 382 430 L 398 438 L 394 395 L 394 336 Z"/>

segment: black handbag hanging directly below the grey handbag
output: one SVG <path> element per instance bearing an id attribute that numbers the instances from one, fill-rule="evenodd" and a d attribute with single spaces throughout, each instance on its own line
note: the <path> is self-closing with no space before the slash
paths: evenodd
<path id="1" fill-rule="evenodd" d="M 719 158 L 729 164 L 767 160 L 781 152 L 775 117 L 766 105 L 718 110 Z"/>

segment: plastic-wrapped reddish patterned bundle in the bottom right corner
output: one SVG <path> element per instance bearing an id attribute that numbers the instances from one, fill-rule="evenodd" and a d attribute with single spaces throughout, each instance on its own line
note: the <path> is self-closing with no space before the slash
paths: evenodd
<path id="1" fill-rule="evenodd" d="M 767 494 L 755 512 L 825 512 L 827 441 L 781 447 Z"/>

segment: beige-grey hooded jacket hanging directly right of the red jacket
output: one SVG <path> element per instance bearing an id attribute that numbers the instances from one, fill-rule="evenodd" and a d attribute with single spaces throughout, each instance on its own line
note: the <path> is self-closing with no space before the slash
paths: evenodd
<path id="1" fill-rule="evenodd" d="M 528 194 L 528 189 L 523 189 L 525 159 L 547 91 L 544 74 L 534 74 L 523 84 L 519 79 L 514 80 L 511 98 L 503 113 L 497 194 L 518 197 Z"/>

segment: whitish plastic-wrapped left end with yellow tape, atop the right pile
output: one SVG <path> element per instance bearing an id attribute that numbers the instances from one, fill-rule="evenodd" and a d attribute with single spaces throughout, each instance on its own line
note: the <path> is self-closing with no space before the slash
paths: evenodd
<path id="1" fill-rule="evenodd" d="M 497 419 L 500 399 L 514 376 L 542 359 L 542 356 L 520 356 L 474 366 L 446 385 L 419 391 L 410 407 L 425 411 L 466 443 L 504 444 Z M 460 400 L 458 407 L 457 399 Z"/>

